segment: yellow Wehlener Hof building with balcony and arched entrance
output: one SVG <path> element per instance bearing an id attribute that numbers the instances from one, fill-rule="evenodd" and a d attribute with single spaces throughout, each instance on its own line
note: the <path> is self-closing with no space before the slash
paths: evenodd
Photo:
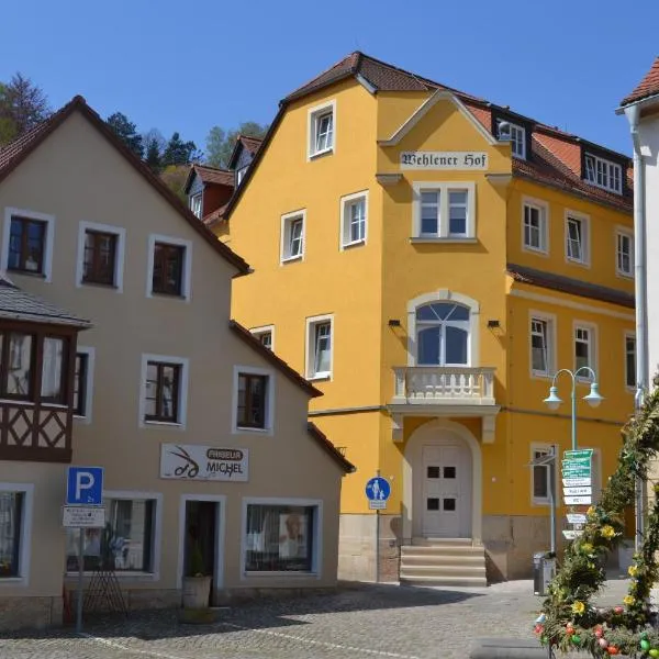
<path id="1" fill-rule="evenodd" d="M 571 380 L 543 403 L 560 368 L 597 375 L 578 432 L 606 482 L 635 384 L 629 167 L 361 53 L 281 102 L 213 230 L 255 270 L 234 316 L 323 391 L 311 416 L 357 466 L 342 577 L 527 574 L 550 489 L 528 465 L 570 448 Z"/>

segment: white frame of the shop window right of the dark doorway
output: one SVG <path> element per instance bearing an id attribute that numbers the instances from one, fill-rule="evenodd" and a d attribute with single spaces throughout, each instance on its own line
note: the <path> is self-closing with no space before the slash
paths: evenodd
<path id="1" fill-rule="evenodd" d="M 248 505 L 293 505 L 293 506 L 313 506 L 315 507 L 314 528 L 313 528 L 313 545 L 311 557 L 310 572 L 247 572 L 245 570 L 245 557 L 247 554 L 247 506 Z M 282 498 L 243 498 L 243 520 L 241 523 L 241 581 L 249 581 L 253 579 L 281 579 L 283 576 L 287 579 L 322 579 L 323 577 L 323 500 L 322 499 L 282 499 Z"/>

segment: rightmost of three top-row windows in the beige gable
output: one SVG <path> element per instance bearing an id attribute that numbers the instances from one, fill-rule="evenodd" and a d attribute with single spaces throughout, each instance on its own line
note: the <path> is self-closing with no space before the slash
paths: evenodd
<path id="1" fill-rule="evenodd" d="M 147 298 L 156 294 L 190 300 L 191 241 L 152 234 L 148 258 Z"/>

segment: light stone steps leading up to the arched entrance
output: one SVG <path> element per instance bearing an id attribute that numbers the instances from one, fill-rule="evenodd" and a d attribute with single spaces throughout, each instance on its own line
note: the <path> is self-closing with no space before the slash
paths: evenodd
<path id="1" fill-rule="evenodd" d="M 488 585 L 485 552 L 469 538 L 413 538 L 401 547 L 401 584 Z"/>

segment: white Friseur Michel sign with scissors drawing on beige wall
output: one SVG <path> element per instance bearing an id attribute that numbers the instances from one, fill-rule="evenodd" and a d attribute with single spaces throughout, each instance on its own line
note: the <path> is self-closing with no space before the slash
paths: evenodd
<path id="1" fill-rule="evenodd" d="M 197 444 L 161 444 L 160 478 L 247 481 L 249 451 Z"/>

